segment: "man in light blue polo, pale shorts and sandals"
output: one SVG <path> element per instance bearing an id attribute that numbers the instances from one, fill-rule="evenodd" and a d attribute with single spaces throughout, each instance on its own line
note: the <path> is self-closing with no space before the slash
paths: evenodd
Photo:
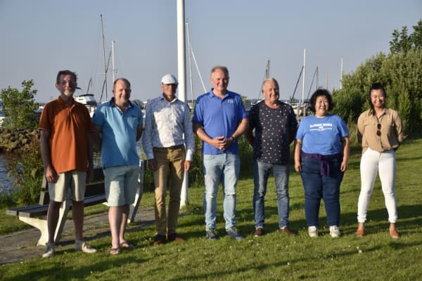
<path id="1" fill-rule="evenodd" d="M 143 129 L 141 109 L 129 101 L 130 83 L 116 79 L 113 98 L 101 104 L 92 118 L 96 125 L 94 145 L 101 150 L 108 221 L 112 237 L 110 254 L 120 254 L 121 248 L 133 248 L 124 240 L 129 204 L 135 200 L 139 178 L 139 157 L 136 141 Z M 101 136 L 100 136 L 101 133 Z"/>

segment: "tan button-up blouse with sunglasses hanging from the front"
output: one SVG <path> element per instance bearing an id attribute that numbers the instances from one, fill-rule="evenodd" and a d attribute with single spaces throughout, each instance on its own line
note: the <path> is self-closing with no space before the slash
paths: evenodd
<path id="1" fill-rule="evenodd" d="M 402 118 L 386 107 L 379 118 L 373 110 L 366 110 L 357 120 L 357 139 L 362 144 L 362 153 L 367 148 L 378 152 L 396 150 L 404 140 Z"/>

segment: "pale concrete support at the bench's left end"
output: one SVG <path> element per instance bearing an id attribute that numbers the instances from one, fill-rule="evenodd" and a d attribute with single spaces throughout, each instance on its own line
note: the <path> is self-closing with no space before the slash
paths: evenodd
<path id="1" fill-rule="evenodd" d="M 58 223 L 56 227 L 56 234 L 54 235 L 55 242 L 60 240 L 61 233 L 63 232 L 63 228 L 65 226 L 66 217 L 68 216 L 70 207 L 70 202 L 65 201 L 60 207 L 59 215 L 58 215 Z M 47 216 L 39 216 L 38 218 L 27 218 L 24 216 L 19 216 L 20 221 L 29 224 L 30 226 L 34 226 L 34 228 L 38 228 L 41 233 L 39 240 L 37 242 L 37 246 L 45 246 L 47 242 L 49 242 L 49 230 L 47 228 Z"/>

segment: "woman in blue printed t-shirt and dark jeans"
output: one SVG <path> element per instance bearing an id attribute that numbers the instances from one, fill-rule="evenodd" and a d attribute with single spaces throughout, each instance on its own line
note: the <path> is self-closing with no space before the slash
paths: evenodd
<path id="1" fill-rule="evenodd" d="M 331 237 L 339 237 L 340 183 L 350 155 L 349 131 L 343 119 L 328 113 L 331 93 L 318 89 L 311 97 L 314 115 L 301 120 L 296 133 L 295 170 L 305 190 L 305 216 L 310 237 L 318 236 L 318 215 L 324 200 Z"/>

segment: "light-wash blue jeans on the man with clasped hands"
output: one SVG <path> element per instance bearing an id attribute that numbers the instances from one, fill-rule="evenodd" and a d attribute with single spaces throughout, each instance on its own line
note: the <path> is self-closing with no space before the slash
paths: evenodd
<path id="1" fill-rule="evenodd" d="M 223 211 L 226 229 L 236 227 L 236 185 L 241 161 L 238 155 L 223 153 L 203 155 L 205 176 L 204 212 L 205 228 L 215 229 L 217 218 L 217 192 L 222 180 L 224 201 Z"/>

